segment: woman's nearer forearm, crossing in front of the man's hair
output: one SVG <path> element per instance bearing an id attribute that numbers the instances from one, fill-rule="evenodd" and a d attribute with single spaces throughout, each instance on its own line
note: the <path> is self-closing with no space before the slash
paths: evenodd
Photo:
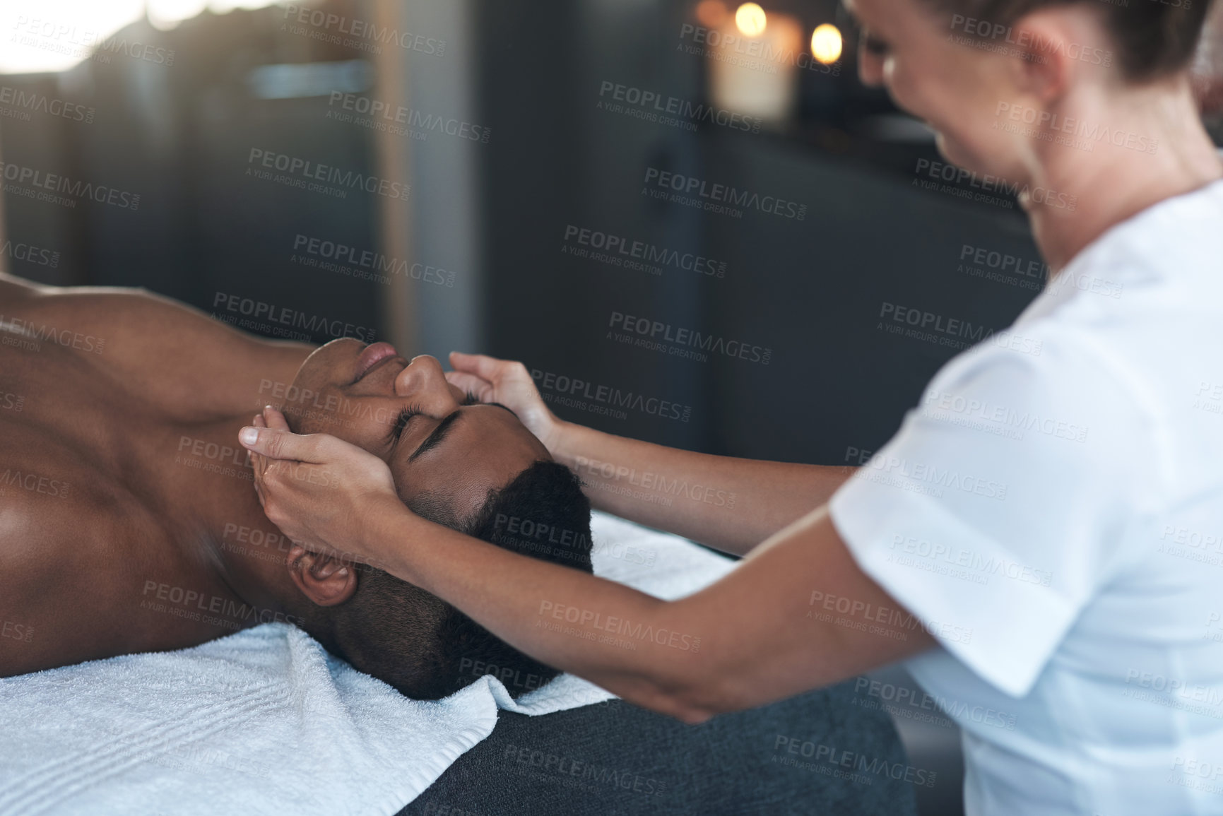
<path id="1" fill-rule="evenodd" d="M 516 648 L 660 713 L 689 722 L 712 713 L 687 702 L 692 678 L 717 672 L 700 640 L 693 646 L 692 626 L 676 623 L 678 603 L 471 538 L 397 502 L 367 514 L 362 527 L 371 563 L 445 598 Z M 642 628 L 656 637 L 607 634 Z"/>

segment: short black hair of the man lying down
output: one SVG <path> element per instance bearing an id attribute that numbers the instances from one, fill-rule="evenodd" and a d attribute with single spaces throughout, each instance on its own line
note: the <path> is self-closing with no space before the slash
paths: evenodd
<path id="1" fill-rule="evenodd" d="M 468 519 L 456 519 L 435 494 L 415 498 L 408 509 L 504 549 L 593 571 L 591 503 L 564 465 L 534 462 L 489 491 Z M 500 678 L 517 697 L 559 674 L 449 603 L 378 569 L 361 569 L 346 603 L 311 612 L 306 629 L 328 650 L 416 700 L 439 700 L 484 674 Z"/>

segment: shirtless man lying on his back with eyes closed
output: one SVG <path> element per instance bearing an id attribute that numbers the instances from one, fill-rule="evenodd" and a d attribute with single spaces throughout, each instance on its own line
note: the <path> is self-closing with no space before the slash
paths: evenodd
<path id="1" fill-rule="evenodd" d="M 418 515 L 591 571 L 577 480 L 471 402 L 384 343 L 262 340 L 141 290 L 0 274 L 0 677 L 285 620 L 411 697 L 484 666 L 515 696 L 541 685 L 556 673 L 449 604 L 285 540 L 237 444 L 276 405 L 380 456 Z M 571 535 L 539 547 L 508 520 Z"/>

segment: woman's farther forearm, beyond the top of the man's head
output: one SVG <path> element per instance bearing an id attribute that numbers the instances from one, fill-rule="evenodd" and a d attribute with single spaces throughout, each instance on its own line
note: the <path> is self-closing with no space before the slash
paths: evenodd
<path id="1" fill-rule="evenodd" d="M 737 555 L 828 502 L 855 471 L 712 456 L 570 423 L 553 453 L 599 510 Z"/>

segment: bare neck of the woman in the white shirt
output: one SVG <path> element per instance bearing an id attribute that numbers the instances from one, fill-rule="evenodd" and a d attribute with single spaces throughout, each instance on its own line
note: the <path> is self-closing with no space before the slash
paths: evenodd
<path id="1" fill-rule="evenodd" d="M 1090 131 L 1106 132 L 1123 147 L 1101 139 L 1085 150 L 1051 141 L 1033 152 L 1029 187 L 1043 201 L 1029 196 L 1022 203 L 1055 270 L 1114 225 L 1223 177 L 1188 81 L 1177 81 L 1172 94 L 1156 86 L 1129 92 L 1126 103 L 1074 110 Z"/>

